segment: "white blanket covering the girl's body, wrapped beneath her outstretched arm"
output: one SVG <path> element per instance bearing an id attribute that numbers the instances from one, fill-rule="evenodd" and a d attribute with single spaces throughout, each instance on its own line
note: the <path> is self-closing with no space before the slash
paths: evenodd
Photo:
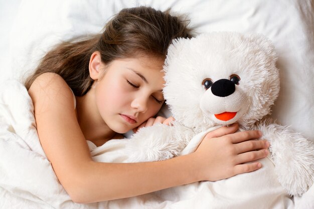
<path id="1" fill-rule="evenodd" d="M 189 145 L 201 138 L 202 134 L 197 135 Z M 128 158 L 127 146 L 132 142 L 110 140 L 101 147 L 88 143 L 94 160 L 124 162 Z M 271 160 L 265 158 L 261 163 L 263 167 L 258 171 L 216 182 L 196 182 L 131 198 L 77 204 L 58 181 L 41 147 L 27 90 L 18 81 L 0 87 L 0 208 L 314 208 L 314 186 L 302 197 L 289 197 L 276 178 L 268 175 L 273 169 Z M 265 176 L 266 181 L 259 181 L 259 177 Z"/>

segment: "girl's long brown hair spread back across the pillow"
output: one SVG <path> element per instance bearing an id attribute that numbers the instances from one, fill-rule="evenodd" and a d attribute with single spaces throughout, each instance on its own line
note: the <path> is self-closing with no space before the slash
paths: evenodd
<path id="1" fill-rule="evenodd" d="M 170 15 L 170 10 L 123 9 L 106 24 L 102 34 L 62 42 L 49 51 L 25 86 L 29 89 L 38 76 L 54 72 L 67 82 L 76 96 L 83 96 L 93 83 L 89 76 L 93 52 L 100 52 L 104 64 L 145 54 L 165 59 L 173 39 L 192 38 L 193 30 L 188 25 L 189 21 L 182 16 Z"/>

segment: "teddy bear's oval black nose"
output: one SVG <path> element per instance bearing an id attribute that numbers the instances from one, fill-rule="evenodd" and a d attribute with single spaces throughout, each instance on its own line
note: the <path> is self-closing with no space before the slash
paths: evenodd
<path id="1" fill-rule="evenodd" d="M 213 83 L 211 90 L 218 97 L 227 97 L 235 91 L 235 84 L 228 79 L 220 79 Z"/>

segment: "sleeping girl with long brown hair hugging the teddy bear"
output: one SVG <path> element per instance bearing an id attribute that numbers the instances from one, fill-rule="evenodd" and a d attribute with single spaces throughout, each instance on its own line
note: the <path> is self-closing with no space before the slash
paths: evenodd
<path id="1" fill-rule="evenodd" d="M 261 167 L 246 162 L 266 157 L 269 144 L 254 140 L 259 131 L 236 133 L 237 124 L 208 133 L 194 153 L 164 161 L 92 160 L 87 140 L 101 146 L 130 130 L 173 120 L 154 118 L 165 102 L 164 60 L 173 39 L 192 36 L 188 21 L 170 11 L 123 9 L 102 34 L 49 51 L 28 78 L 41 145 L 73 201 L 130 197 Z M 235 152 L 224 152 L 228 147 Z"/>

